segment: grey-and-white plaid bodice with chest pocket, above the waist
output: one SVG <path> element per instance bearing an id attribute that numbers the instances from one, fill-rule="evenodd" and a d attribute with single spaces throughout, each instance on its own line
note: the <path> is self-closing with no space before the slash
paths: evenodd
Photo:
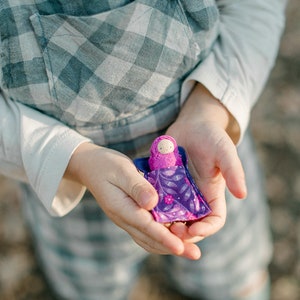
<path id="1" fill-rule="evenodd" d="M 218 33 L 213 0 L 4 0 L 0 19 L 3 92 L 121 151 L 174 120 Z"/>

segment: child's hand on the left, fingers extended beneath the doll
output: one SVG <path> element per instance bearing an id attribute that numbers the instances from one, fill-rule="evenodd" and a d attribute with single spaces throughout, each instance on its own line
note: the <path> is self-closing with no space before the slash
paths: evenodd
<path id="1" fill-rule="evenodd" d="M 65 176 L 85 185 L 106 215 L 148 252 L 200 257 L 196 245 L 183 242 L 154 221 L 148 210 L 157 204 L 157 193 L 125 155 L 90 143 L 81 144 Z"/>

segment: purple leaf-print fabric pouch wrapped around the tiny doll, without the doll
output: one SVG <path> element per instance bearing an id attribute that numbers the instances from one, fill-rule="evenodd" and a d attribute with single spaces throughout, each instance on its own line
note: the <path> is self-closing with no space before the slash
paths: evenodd
<path id="1" fill-rule="evenodd" d="M 151 171 L 148 158 L 134 160 L 136 167 L 157 190 L 158 204 L 151 213 L 160 223 L 198 220 L 211 212 L 189 173 L 184 149 L 178 148 L 183 162 L 181 166 Z"/>

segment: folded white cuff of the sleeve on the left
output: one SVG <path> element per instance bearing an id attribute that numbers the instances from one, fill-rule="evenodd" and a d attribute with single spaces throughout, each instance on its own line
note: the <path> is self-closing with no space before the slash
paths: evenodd
<path id="1" fill-rule="evenodd" d="M 57 120 L 19 104 L 21 154 L 28 182 L 52 216 L 63 216 L 81 200 L 86 188 L 64 179 L 75 149 L 90 142 Z"/>

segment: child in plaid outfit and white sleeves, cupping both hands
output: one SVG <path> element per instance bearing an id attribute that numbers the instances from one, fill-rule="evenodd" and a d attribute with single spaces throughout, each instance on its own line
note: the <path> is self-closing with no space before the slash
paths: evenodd
<path id="1" fill-rule="evenodd" d="M 178 293 L 268 299 L 267 209 L 246 128 L 285 1 L 0 3 L 1 172 L 23 181 L 58 298 L 124 299 L 150 252 L 169 254 Z M 157 194 L 129 157 L 162 133 L 186 149 L 210 204 L 199 222 L 166 228 L 149 213 Z"/>

